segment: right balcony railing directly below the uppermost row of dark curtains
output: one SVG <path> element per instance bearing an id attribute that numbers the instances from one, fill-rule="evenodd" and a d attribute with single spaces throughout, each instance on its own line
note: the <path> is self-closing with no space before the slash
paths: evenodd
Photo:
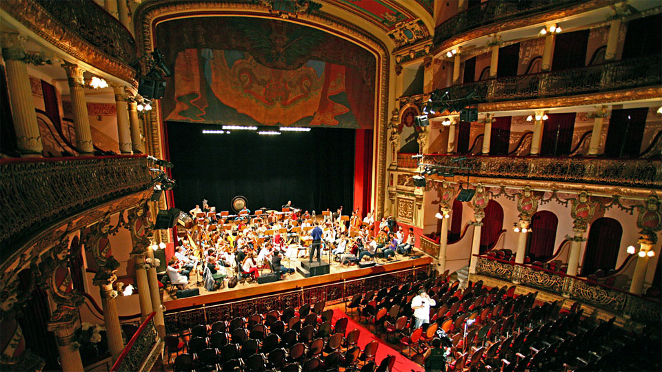
<path id="1" fill-rule="evenodd" d="M 463 99 L 475 91 L 476 102 L 485 103 L 609 92 L 660 84 L 662 59 L 659 55 L 652 55 L 570 70 L 477 81 L 444 90 L 448 90 L 450 99 Z"/>

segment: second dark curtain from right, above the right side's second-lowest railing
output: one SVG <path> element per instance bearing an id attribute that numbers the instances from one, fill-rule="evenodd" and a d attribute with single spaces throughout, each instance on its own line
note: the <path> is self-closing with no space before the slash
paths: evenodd
<path id="1" fill-rule="evenodd" d="M 570 154 L 576 113 L 548 114 L 548 116 L 549 119 L 545 121 L 543 126 L 540 154 L 543 156 Z"/>

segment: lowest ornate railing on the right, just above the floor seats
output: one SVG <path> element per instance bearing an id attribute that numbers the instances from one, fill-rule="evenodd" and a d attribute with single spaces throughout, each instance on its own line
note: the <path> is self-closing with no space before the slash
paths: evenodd
<path id="1" fill-rule="evenodd" d="M 476 272 L 481 275 L 508 282 L 519 282 L 519 284 L 527 287 L 559 293 L 572 300 L 592 304 L 641 322 L 659 321 L 662 318 L 662 304 L 659 300 L 636 296 L 622 289 L 601 285 L 597 282 L 565 275 L 557 271 L 517 264 L 488 256 L 476 256 L 478 256 Z"/>

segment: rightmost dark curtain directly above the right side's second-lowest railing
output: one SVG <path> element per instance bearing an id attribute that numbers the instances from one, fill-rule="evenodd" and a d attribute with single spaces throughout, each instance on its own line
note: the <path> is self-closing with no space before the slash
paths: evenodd
<path id="1" fill-rule="evenodd" d="M 612 110 L 605 143 L 605 156 L 610 158 L 639 156 L 646 116 L 648 116 L 648 107 Z"/>

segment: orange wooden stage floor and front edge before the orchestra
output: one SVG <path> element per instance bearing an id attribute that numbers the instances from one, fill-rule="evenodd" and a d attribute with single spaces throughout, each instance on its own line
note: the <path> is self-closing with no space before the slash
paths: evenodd
<path id="1" fill-rule="evenodd" d="M 417 258 L 415 258 L 415 256 L 417 256 Z M 326 258 L 328 260 L 328 256 Z M 296 267 L 300 265 L 299 262 L 301 262 L 301 260 L 304 259 L 292 260 L 290 262 L 290 267 L 296 270 Z M 308 260 L 308 258 L 305 258 L 305 260 Z M 395 260 L 387 261 L 377 258 L 376 261 L 377 265 L 363 269 L 357 265 L 348 267 L 342 266 L 338 262 L 332 262 L 330 267 L 331 272 L 326 275 L 304 278 L 300 273 L 294 271 L 294 273 L 290 274 L 289 276 L 285 276 L 284 280 L 265 284 L 258 284 L 257 282 L 245 282 L 244 284 L 239 283 L 237 287 L 232 289 L 228 288 L 228 280 L 226 279 L 225 288 L 221 288 L 218 291 L 212 292 L 206 291 L 202 285 L 198 287 L 196 285 L 197 276 L 192 275 L 189 288 L 200 289 L 199 296 L 176 299 L 171 297 L 170 294 L 166 292 L 163 295 L 163 300 L 165 308 L 168 309 L 168 311 L 175 309 L 185 309 L 187 307 L 193 307 L 200 304 L 211 304 L 227 300 L 237 300 L 239 298 L 259 296 L 265 293 L 289 291 L 310 285 L 337 282 L 343 279 L 348 280 L 352 278 L 361 278 L 362 276 L 386 273 L 389 271 L 398 271 L 408 267 L 428 265 L 430 262 L 432 262 L 432 258 L 426 254 L 423 254 L 423 252 L 419 251 L 418 249 L 414 249 L 412 256 L 397 255 Z M 287 261 L 283 263 L 285 267 L 288 267 Z M 269 273 L 270 270 L 264 269 L 263 272 Z"/>

